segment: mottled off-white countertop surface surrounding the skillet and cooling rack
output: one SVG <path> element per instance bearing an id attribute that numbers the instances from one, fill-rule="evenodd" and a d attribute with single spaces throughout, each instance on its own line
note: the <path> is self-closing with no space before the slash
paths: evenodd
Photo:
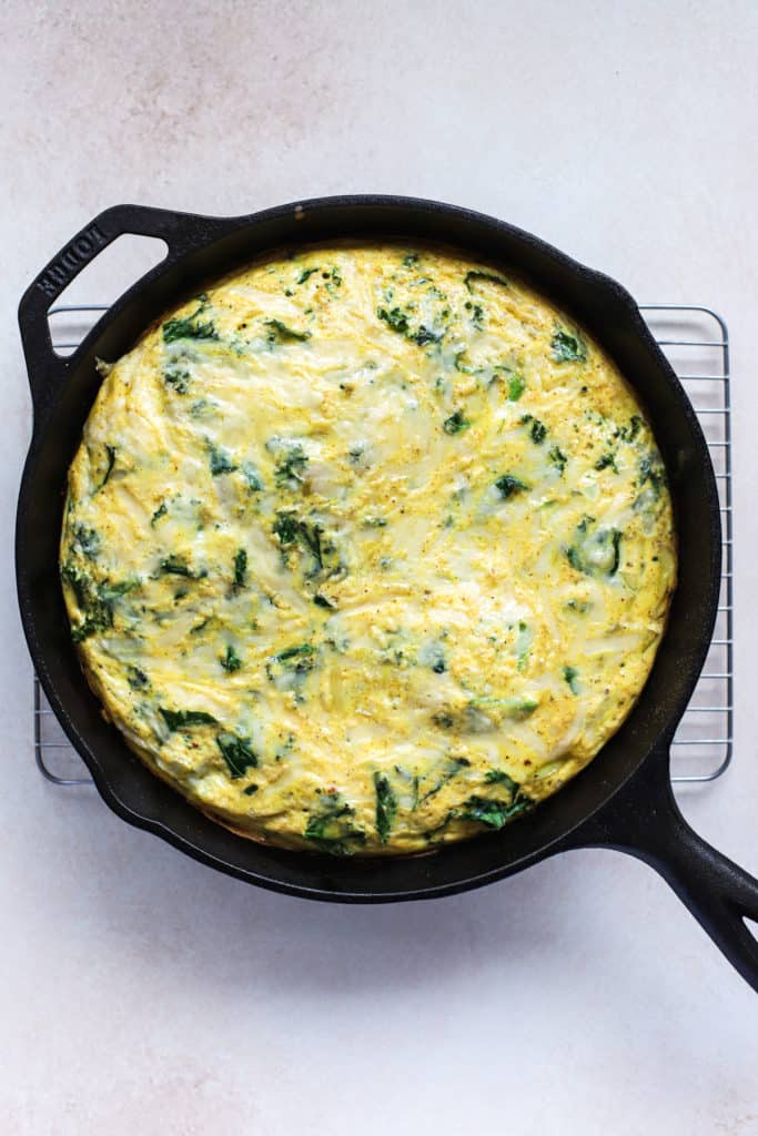
<path id="1" fill-rule="evenodd" d="M 10 550 L 30 431 L 15 308 L 109 204 L 426 195 L 522 225 L 640 301 L 709 303 L 733 341 L 736 755 L 683 808 L 758 874 L 758 7 L 205 9 L 3 6 L 0 1128 L 756 1136 L 756 995 L 641 863 L 573 853 L 455 899 L 322 905 L 45 785 Z M 113 298 L 124 264 L 89 298 Z"/>

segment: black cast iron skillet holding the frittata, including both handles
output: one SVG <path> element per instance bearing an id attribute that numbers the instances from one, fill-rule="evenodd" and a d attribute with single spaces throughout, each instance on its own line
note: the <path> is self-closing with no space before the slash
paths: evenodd
<path id="1" fill-rule="evenodd" d="M 67 359 L 51 348 L 47 312 L 80 269 L 124 233 L 163 237 L 166 259 L 126 292 Z M 280 245 L 344 236 L 438 240 L 525 273 L 603 344 L 652 417 L 676 511 L 680 582 L 668 630 L 634 710 L 602 754 L 560 793 L 502 833 L 433 854 L 333 859 L 266 847 L 191 808 L 132 755 L 102 718 L 74 654 L 58 578 L 67 467 L 100 385 L 95 356 L 116 359 L 166 308 L 238 262 Z M 34 434 L 18 501 L 16 571 L 22 618 L 45 694 L 103 800 L 219 871 L 310 899 L 388 902 L 477 887 L 567 849 L 619 849 L 672 885 L 740 974 L 758 989 L 758 882 L 682 818 L 669 744 L 706 658 L 720 570 L 718 498 L 697 418 L 636 304 L 618 284 L 502 222 L 433 201 L 343 197 L 215 218 L 117 206 L 86 225 L 38 276 L 19 309 Z"/>

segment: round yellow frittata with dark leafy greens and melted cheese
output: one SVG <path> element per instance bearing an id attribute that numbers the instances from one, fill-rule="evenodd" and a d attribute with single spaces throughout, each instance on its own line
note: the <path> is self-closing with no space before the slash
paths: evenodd
<path id="1" fill-rule="evenodd" d="M 106 716 L 259 841 L 500 829 L 618 729 L 676 577 L 616 367 L 510 273 L 283 252 L 152 326 L 69 470 L 60 573 Z"/>

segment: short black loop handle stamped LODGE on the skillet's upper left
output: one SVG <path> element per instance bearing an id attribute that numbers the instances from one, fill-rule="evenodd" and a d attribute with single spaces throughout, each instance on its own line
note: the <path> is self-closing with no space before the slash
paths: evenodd
<path id="1" fill-rule="evenodd" d="M 27 287 L 18 308 L 18 323 L 28 371 L 34 416 L 39 420 L 60 385 L 72 356 L 60 358 L 52 349 L 48 311 L 60 293 L 103 249 L 126 233 L 164 240 L 168 254 L 161 270 L 178 259 L 199 237 L 213 235 L 222 222 L 214 217 L 152 209 L 147 206 L 114 206 L 85 225 L 45 265 Z"/>

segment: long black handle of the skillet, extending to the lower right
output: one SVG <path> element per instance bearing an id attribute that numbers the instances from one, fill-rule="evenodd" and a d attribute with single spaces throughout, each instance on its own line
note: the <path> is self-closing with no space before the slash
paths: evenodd
<path id="1" fill-rule="evenodd" d="M 655 746 L 564 846 L 610 847 L 655 868 L 758 992 L 758 879 L 702 840 L 682 816 L 672 790 L 668 744 Z"/>

